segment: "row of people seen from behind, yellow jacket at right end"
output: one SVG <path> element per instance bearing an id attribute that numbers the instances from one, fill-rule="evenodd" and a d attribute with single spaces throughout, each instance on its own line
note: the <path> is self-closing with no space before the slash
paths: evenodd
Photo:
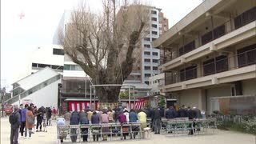
<path id="1" fill-rule="evenodd" d="M 66 112 L 64 114 L 64 119 L 66 124 L 70 125 L 78 125 L 78 124 L 101 124 L 101 123 L 113 123 L 113 122 L 120 122 L 122 125 L 126 122 L 144 122 L 145 124 L 142 124 L 142 129 L 146 127 L 146 113 L 144 110 L 130 110 L 128 111 L 126 108 L 120 109 L 118 107 L 115 107 L 114 109 L 104 109 L 104 110 L 90 110 L 89 107 L 87 107 L 85 110 L 81 111 L 73 111 L 70 113 L 70 111 Z M 61 122 L 61 121 L 60 121 Z M 62 122 L 63 123 L 63 122 Z M 132 127 L 133 131 L 138 131 L 138 126 Z M 82 138 L 83 142 L 87 142 L 88 137 L 88 129 L 82 128 Z M 109 132 L 108 127 L 102 128 L 102 141 L 107 141 L 107 136 Z M 126 136 L 128 136 L 129 128 L 126 126 L 122 126 L 122 139 L 126 139 Z M 71 129 L 71 141 L 75 142 L 77 135 L 76 129 Z M 92 130 L 93 133 L 93 140 L 98 141 L 99 138 L 99 129 L 94 128 Z M 136 132 L 134 134 L 130 134 L 130 138 L 136 138 Z M 74 136 L 74 137 L 73 137 Z M 61 141 L 63 139 L 61 138 Z"/>

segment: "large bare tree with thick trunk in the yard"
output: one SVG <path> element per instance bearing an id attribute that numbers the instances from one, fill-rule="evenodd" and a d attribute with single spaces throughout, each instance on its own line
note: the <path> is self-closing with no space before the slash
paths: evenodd
<path id="1" fill-rule="evenodd" d="M 101 14 L 85 3 L 74 9 L 59 41 L 73 62 L 82 67 L 94 84 L 122 84 L 133 70 L 140 39 L 148 28 L 150 6 L 139 2 L 121 6 L 116 0 L 103 0 Z M 137 50 L 136 50 L 137 49 Z M 99 102 L 118 102 L 121 86 L 96 88 Z"/>

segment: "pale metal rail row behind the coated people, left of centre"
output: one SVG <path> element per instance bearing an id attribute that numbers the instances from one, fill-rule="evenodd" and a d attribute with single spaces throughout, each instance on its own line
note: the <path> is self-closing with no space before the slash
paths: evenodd
<path id="1" fill-rule="evenodd" d="M 142 130 L 142 125 L 147 126 L 146 130 Z M 124 127 L 128 128 L 123 131 Z M 149 127 L 149 128 L 148 128 Z M 123 135 L 136 136 L 138 139 L 144 139 L 145 133 L 150 132 L 149 122 L 130 122 L 130 123 L 101 123 L 87 125 L 61 125 L 57 126 L 58 139 L 68 140 L 69 138 L 78 138 L 78 142 L 82 141 L 82 136 L 87 136 L 88 142 L 93 142 L 92 137 L 98 136 L 98 141 L 102 141 L 103 137 L 108 137 L 108 141 L 120 141 Z M 150 138 L 148 136 L 148 138 Z M 96 140 L 97 138 L 95 138 Z M 127 138 L 128 139 L 128 138 Z M 77 140 L 76 140 L 77 141 Z"/>

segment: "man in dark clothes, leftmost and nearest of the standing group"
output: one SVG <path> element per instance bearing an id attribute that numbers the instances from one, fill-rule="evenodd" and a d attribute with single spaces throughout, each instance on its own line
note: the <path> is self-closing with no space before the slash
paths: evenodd
<path id="1" fill-rule="evenodd" d="M 18 112 L 18 106 L 14 107 L 16 122 L 10 124 L 10 144 L 18 144 L 18 128 L 21 126 L 21 115 Z"/>

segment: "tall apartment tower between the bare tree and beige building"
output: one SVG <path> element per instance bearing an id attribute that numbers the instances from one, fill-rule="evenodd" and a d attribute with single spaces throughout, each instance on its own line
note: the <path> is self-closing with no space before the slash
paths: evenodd
<path id="1" fill-rule="evenodd" d="M 160 50 L 151 45 L 159 35 L 168 30 L 168 19 L 163 17 L 161 9 L 152 7 L 150 10 L 150 28 L 145 38 L 142 38 L 141 82 L 149 85 L 149 78 L 160 74 L 158 70 Z"/>

